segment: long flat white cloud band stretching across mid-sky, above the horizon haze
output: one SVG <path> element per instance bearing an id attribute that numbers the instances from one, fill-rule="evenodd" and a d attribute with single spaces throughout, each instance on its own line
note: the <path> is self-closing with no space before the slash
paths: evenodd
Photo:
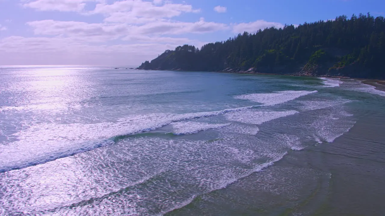
<path id="1" fill-rule="evenodd" d="M 207 33 L 228 29 L 223 23 L 156 21 L 144 25 L 127 25 L 126 23 L 85 23 L 75 21 L 39 20 L 28 22 L 35 35 L 53 35 L 71 37 L 74 40 L 89 42 L 107 42 L 126 36 L 135 38 L 151 35 L 178 35 L 184 33 Z"/>

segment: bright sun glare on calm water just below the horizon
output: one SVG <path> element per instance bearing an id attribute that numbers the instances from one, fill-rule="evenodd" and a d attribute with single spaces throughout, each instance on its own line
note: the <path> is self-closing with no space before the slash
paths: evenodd
<path id="1" fill-rule="evenodd" d="M 20 98 L 20 104 L 37 110 L 62 111 L 79 106 L 87 98 L 84 68 L 75 67 L 30 67 L 18 75 L 20 82 L 11 86 L 20 92 L 28 92 Z M 26 79 L 29 77 L 29 79 Z M 84 88 L 79 88 L 84 86 Z M 87 87 L 88 86 L 88 87 Z M 28 91 L 27 91 L 28 90 Z"/>

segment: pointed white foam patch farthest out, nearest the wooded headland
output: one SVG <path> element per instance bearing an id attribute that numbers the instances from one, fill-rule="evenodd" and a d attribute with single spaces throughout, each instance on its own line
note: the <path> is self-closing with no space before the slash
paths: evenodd
<path id="1" fill-rule="evenodd" d="M 317 91 L 276 91 L 274 93 L 240 95 L 235 98 L 262 103 L 262 106 L 273 106 L 316 92 Z"/>

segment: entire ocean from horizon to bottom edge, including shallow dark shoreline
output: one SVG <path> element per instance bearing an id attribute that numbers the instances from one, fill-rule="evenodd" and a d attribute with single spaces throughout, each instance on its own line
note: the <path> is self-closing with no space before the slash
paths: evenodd
<path id="1" fill-rule="evenodd" d="M 0 215 L 383 215 L 385 91 L 0 67 Z"/>

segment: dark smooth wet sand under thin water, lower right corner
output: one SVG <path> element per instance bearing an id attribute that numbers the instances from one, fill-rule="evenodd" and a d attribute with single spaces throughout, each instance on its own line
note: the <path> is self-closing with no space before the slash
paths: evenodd
<path id="1" fill-rule="evenodd" d="M 383 216 L 385 116 L 361 114 L 333 143 L 309 143 L 224 189 L 167 216 Z"/>

